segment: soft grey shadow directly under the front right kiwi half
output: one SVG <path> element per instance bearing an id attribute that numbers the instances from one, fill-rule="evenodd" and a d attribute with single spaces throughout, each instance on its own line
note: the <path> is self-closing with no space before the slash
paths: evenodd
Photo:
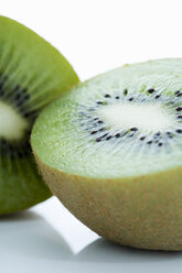
<path id="1" fill-rule="evenodd" d="M 182 251 L 142 250 L 122 247 L 103 238 L 97 239 L 84 250 L 76 259 L 94 263 L 153 263 L 182 259 Z"/>

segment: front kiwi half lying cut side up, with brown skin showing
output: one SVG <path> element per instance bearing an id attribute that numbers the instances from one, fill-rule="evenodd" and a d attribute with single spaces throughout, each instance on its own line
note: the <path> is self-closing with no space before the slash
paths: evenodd
<path id="1" fill-rule="evenodd" d="M 31 136 L 51 190 L 116 243 L 182 250 L 182 59 L 103 74 L 47 107 Z"/>

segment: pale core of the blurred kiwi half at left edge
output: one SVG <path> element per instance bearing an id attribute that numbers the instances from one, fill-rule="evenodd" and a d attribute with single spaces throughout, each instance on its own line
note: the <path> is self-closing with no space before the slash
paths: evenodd
<path id="1" fill-rule="evenodd" d="M 29 123 L 11 106 L 0 101 L 0 138 L 20 140 Z"/>

